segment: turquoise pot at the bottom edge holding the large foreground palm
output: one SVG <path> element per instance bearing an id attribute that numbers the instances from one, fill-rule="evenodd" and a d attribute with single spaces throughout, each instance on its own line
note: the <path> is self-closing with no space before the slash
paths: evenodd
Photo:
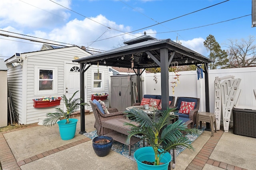
<path id="1" fill-rule="evenodd" d="M 149 162 L 155 161 L 155 154 L 152 147 L 143 147 L 134 152 L 134 158 L 138 165 L 138 170 L 168 170 L 168 165 L 171 162 L 171 154 L 165 153 L 160 162 L 162 165 L 148 165 L 143 164 L 142 161 L 146 160 Z"/>

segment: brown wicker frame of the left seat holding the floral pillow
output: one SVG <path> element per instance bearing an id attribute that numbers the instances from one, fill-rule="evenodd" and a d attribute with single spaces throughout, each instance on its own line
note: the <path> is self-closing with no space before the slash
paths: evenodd
<path id="1" fill-rule="evenodd" d="M 124 118 L 125 117 L 124 112 L 118 111 L 118 109 L 116 109 L 116 108 L 108 108 L 108 111 L 110 112 L 110 114 L 103 114 L 100 111 L 100 109 L 97 107 L 97 105 L 92 102 L 92 100 L 90 100 L 89 102 L 90 102 L 90 105 L 92 106 L 92 111 L 93 111 L 93 114 L 95 117 L 94 127 L 97 129 L 98 135 L 102 135 L 102 133 L 101 133 L 102 121 L 114 119 L 114 118 Z M 103 135 L 110 133 L 111 131 L 113 131 L 113 130 L 103 128 Z"/>

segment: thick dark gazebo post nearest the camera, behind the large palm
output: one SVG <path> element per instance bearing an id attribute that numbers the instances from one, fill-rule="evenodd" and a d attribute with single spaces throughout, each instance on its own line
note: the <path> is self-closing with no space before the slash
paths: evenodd
<path id="1" fill-rule="evenodd" d="M 168 49 L 160 49 L 162 110 L 169 107 Z"/>

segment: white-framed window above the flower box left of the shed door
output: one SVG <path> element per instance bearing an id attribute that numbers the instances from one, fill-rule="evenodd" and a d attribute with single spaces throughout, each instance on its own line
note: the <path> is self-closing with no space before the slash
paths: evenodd
<path id="1" fill-rule="evenodd" d="M 35 66 L 34 94 L 38 96 L 52 96 L 54 94 L 57 94 L 57 74 L 57 66 Z"/>

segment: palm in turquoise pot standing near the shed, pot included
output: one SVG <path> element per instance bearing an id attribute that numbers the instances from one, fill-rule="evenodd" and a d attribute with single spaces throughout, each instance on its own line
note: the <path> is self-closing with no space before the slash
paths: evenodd
<path id="1" fill-rule="evenodd" d="M 78 91 L 74 92 L 72 97 L 69 99 L 65 94 L 61 96 L 66 110 L 64 111 L 60 107 L 56 108 L 56 112 L 54 113 L 46 113 L 46 119 L 43 120 L 43 125 L 52 126 L 58 123 L 60 130 L 60 137 L 62 140 L 73 139 L 76 133 L 76 123 L 78 119 L 70 119 L 71 113 L 78 111 L 80 106 L 86 106 L 87 103 L 81 103 L 81 98 L 74 98 Z M 59 121 L 59 119 L 62 119 Z"/>

